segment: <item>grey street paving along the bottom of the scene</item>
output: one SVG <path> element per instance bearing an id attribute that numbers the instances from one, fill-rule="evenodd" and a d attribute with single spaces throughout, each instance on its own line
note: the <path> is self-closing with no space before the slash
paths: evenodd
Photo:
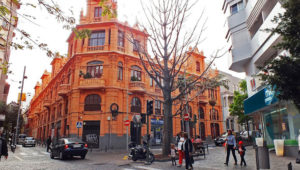
<path id="1" fill-rule="evenodd" d="M 160 149 L 154 149 L 153 152 L 160 152 Z M 50 159 L 49 153 L 41 147 L 18 146 L 16 153 L 9 153 L 8 160 L 2 159 L 0 170 L 183 170 L 171 166 L 171 162 L 154 162 L 152 165 L 144 165 L 142 161 L 129 161 L 124 159 L 126 151 L 114 152 L 89 152 L 85 160 L 74 158 L 70 160 Z M 238 156 L 238 155 L 237 155 Z M 125 157 L 126 158 L 126 157 Z M 238 157 L 239 160 L 239 157 Z M 252 147 L 247 147 L 246 161 L 247 167 L 234 166 L 233 158 L 230 158 L 229 166 L 225 166 L 225 150 L 222 147 L 210 147 L 206 159 L 197 158 L 194 169 L 201 170 L 231 170 L 243 169 L 254 170 L 255 156 Z M 270 153 L 271 169 L 285 170 L 287 164 L 292 162 L 294 170 L 300 170 L 300 165 L 295 164 L 294 158 L 277 157 L 275 153 Z"/>

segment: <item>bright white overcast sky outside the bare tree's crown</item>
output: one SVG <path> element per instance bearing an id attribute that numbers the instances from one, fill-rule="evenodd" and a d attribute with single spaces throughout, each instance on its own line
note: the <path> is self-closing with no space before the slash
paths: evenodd
<path id="1" fill-rule="evenodd" d="M 37 0 L 22 0 L 26 2 L 36 2 Z M 60 7 L 68 13 L 69 9 L 74 11 L 74 17 L 79 19 L 80 10 L 86 12 L 86 0 L 55 0 Z M 142 0 L 147 2 L 147 0 Z M 225 34 L 227 26 L 222 12 L 222 0 L 199 0 L 194 7 L 192 15 L 188 18 L 185 28 L 190 28 L 195 20 L 199 17 L 202 9 L 205 9 L 205 18 L 208 18 L 207 29 L 204 33 L 206 40 L 199 45 L 199 50 L 204 51 L 204 55 L 210 56 L 216 49 L 226 46 Z M 33 22 L 28 21 L 25 17 L 19 16 L 18 28 L 28 31 L 33 39 L 38 39 L 45 42 L 49 47 L 61 54 L 67 53 L 66 40 L 70 31 L 64 30 L 62 25 L 58 23 L 53 16 L 47 14 L 44 9 L 37 7 L 23 6 L 18 11 L 20 14 L 29 14 L 36 17 Z M 69 14 L 69 13 L 68 13 Z M 143 12 L 140 5 L 140 0 L 118 0 L 118 19 L 120 21 L 128 21 L 130 25 L 138 21 L 143 21 Z M 189 25 L 191 25 L 189 27 Z M 17 33 L 17 32 L 16 32 Z M 18 34 L 18 33 L 17 33 Z M 16 36 L 18 37 L 18 35 Z M 45 55 L 45 52 L 38 49 L 34 50 L 12 50 L 10 56 L 10 71 L 8 82 L 10 83 L 10 92 L 8 96 L 8 103 L 17 100 L 17 94 L 20 93 L 18 88 L 21 84 L 18 82 L 22 79 L 23 69 L 26 66 L 26 75 L 28 79 L 25 80 L 24 93 L 29 93 L 31 96 L 27 97 L 28 105 L 31 97 L 34 95 L 34 86 L 45 70 L 51 71 L 52 59 Z M 215 62 L 215 67 L 219 70 L 232 73 L 235 76 L 244 77 L 244 74 L 237 74 L 228 70 L 228 55 L 218 59 Z"/>

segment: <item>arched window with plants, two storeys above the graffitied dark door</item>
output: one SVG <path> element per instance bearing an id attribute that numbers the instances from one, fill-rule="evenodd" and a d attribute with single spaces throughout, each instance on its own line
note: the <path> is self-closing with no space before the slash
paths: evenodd
<path id="1" fill-rule="evenodd" d="M 103 74 L 103 61 L 87 63 L 86 78 L 100 78 Z"/>

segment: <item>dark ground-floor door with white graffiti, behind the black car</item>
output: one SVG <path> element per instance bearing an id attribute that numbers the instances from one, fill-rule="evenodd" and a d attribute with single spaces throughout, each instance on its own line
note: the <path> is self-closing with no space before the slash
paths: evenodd
<path id="1" fill-rule="evenodd" d="M 83 121 L 82 140 L 89 148 L 99 148 L 100 121 Z"/>

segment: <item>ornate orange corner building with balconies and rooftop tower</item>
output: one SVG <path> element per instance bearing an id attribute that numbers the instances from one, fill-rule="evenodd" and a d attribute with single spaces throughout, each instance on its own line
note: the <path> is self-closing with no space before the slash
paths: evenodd
<path id="1" fill-rule="evenodd" d="M 77 39 L 74 33 L 68 38 L 69 52 L 66 58 L 54 58 L 52 72 L 41 77 L 35 86 L 29 109 L 29 135 L 40 140 L 80 136 L 94 147 L 126 148 L 129 120 L 139 113 L 146 113 L 147 100 L 153 100 L 155 113 L 151 116 L 151 142 L 160 144 L 163 133 L 162 92 L 147 76 L 138 54 L 125 35 L 133 33 L 136 40 L 147 47 L 147 34 L 138 26 L 130 27 L 116 18 L 102 17 L 99 0 L 88 0 L 86 16 L 81 13 L 78 30 L 89 29 L 90 38 Z M 110 0 L 109 3 L 115 3 Z M 116 4 L 115 4 L 116 5 Z M 205 68 L 205 57 L 195 50 L 187 72 L 199 75 Z M 214 71 L 218 74 L 218 71 Z M 208 101 L 216 98 L 215 114 Z M 118 105 L 119 114 L 113 116 L 111 105 Z M 217 136 L 222 133 L 220 89 L 206 90 L 190 103 L 191 113 L 198 120 L 191 127 L 193 135 Z M 174 107 L 173 111 L 175 112 Z M 192 117 L 192 115 L 191 115 Z M 77 122 L 83 127 L 77 128 Z M 179 116 L 173 120 L 173 134 L 183 127 Z M 215 130 L 214 130 L 215 129 Z M 146 125 L 129 128 L 131 140 L 146 134 Z"/>

